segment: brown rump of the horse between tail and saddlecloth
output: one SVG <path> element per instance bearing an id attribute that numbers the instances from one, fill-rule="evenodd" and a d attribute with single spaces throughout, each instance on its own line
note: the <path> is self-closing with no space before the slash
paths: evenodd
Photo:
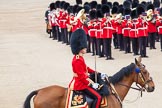
<path id="1" fill-rule="evenodd" d="M 60 86 L 50 86 L 39 90 L 34 98 L 34 108 L 64 108 L 66 89 Z"/>

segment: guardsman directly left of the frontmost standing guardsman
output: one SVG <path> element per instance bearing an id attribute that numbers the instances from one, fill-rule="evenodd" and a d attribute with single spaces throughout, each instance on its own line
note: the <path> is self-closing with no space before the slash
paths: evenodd
<path id="1" fill-rule="evenodd" d="M 103 38 L 102 38 L 102 18 L 103 14 L 101 10 L 97 10 L 97 22 L 94 25 L 95 28 L 97 29 L 96 31 L 96 40 L 97 40 L 97 49 L 98 49 L 98 55 L 99 58 L 104 57 L 104 46 L 103 46 Z"/>

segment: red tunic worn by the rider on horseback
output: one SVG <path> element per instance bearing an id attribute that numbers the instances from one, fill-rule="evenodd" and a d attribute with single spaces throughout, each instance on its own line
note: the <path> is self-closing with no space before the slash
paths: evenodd
<path id="1" fill-rule="evenodd" d="M 88 81 L 88 73 L 93 73 L 94 70 L 86 66 L 84 58 L 82 56 L 74 56 L 72 60 L 72 68 L 74 77 L 69 84 L 69 87 L 73 90 L 86 89 L 90 83 Z"/>

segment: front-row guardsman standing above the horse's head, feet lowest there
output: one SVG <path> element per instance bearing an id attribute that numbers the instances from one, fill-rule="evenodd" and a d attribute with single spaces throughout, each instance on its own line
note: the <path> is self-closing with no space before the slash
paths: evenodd
<path id="1" fill-rule="evenodd" d="M 147 21 L 145 20 L 144 16 L 142 15 L 145 12 L 142 6 L 137 7 L 137 15 L 138 15 L 138 23 L 137 23 L 137 34 L 139 37 L 139 47 L 140 47 L 140 55 L 141 57 L 148 57 L 146 54 L 146 39 L 148 37 L 147 32 Z"/>

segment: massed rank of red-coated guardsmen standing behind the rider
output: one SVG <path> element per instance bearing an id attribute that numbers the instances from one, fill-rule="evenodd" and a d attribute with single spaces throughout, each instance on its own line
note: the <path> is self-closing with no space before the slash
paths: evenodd
<path id="1" fill-rule="evenodd" d="M 57 0 L 45 12 L 50 38 L 70 44 L 71 34 L 82 28 L 87 35 L 87 52 L 99 58 L 113 60 L 112 48 L 148 57 L 147 49 L 156 49 L 160 42 L 162 52 L 162 8 L 160 1 L 107 0 L 75 4 Z M 148 48 L 147 48 L 148 47 Z M 159 50 L 159 49 L 158 49 Z"/>

